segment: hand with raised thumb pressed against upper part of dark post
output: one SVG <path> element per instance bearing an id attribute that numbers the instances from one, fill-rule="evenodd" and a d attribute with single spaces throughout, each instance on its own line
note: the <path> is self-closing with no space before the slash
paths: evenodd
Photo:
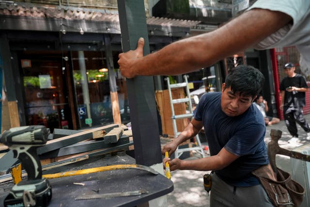
<path id="1" fill-rule="evenodd" d="M 125 53 L 121 53 L 118 55 L 118 64 L 120 65 L 120 70 L 122 76 L 131 79 L 136 77 L 137 71 L 134 67 L 134 62 L 138 58 L 143 57 L 143 46 L 144 46 L 144 39 L 140 37 L 138 40 L 138 47 L 135 50 L 130 50 Z"/>

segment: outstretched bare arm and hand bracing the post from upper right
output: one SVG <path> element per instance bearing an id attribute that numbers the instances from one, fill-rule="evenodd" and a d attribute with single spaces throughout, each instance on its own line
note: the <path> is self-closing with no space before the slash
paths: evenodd
<path id="1" fill-rule="evenodd" d="M 137 50 L 120 54 L 118 63 L 122 75 L 127 78 L 184 74 L 260 42 L 291 20 L 281 12 L 252 9 L 213 32 L 174 42 L 144 57 L 144 41 L 139 40 Z"/>

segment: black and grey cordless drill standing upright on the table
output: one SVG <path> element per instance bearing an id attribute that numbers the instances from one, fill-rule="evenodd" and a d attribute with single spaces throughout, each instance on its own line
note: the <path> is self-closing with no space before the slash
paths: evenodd
<path id="1" fill-rule="evenodd" d="M 1 143 L 13 150 L 28 174 L 27 180 L 14 185 L 4 200 L 4 207 L 46 207 L 52 190 L 46 178 L 42 178 L 42 167 L 37 148 L 47 143 L 45 126 L 14 127 L 4 131 Z"/>

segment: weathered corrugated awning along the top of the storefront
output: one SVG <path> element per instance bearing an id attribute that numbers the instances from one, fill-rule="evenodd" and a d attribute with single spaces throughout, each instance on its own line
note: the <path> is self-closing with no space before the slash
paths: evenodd
<path id="1" fill-rule="evenodd" d="M 148 17 L 150 35 L 183 37 L 200 21 Z M 117 10 L 0 3 L 0 30 L 119 34 Z"/>

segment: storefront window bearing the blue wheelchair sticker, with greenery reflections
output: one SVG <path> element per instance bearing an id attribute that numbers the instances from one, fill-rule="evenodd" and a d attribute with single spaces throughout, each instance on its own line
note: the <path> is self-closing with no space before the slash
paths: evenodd
<path id="1" fill-rule="evenodd" d="M 113 123 L 109 72 L 104 51 L 73 51 L 72 63 L 80 127 Z M 129 118 L 129 108 L 124 110 L 127 104 L 126 86 L 125 80 L 119 79 L 119 74 L 116 74 L 119 108 L 123 122 Z M 89 124 L 90 120 L 92 124 Z"/>

